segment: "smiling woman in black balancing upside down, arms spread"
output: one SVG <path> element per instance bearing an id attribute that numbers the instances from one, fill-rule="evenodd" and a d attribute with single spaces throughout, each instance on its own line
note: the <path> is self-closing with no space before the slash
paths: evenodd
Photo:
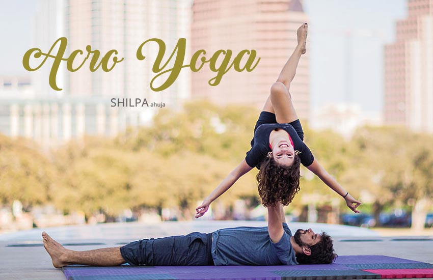
<path id="1" fill-rule="evenodd" d="M 227 191 L 237 179 L 259 169 L 256 178 L 262 203 L 265 207 L 279 202 L 288 205 L 300 190 L 300 164 L 317 175 L 325 184 L 337 192 L 355 213 L 361 202 L 354 199 L 313 157 L 303 142 L 304 132 L 293 107 L 289 93 L 301 55 L 306 52 L 308 25 L 297 30 L 297 46 L 284 65 L 276 82 L 270 87 L 263 110 L 254 128 L 251 150 L 238 166 L 196 208 L 196 218 L 203 216 L 209 205 Z"/>

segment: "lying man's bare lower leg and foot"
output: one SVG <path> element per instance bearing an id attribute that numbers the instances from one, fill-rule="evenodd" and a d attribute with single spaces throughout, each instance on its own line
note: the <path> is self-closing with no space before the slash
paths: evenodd
<path id="1" fill-rule="evenodd" d="M 117 266 L 126 262 L 120 254 L 120 247 L 74 251 L 66 249 L 45 232 L 42 233 L 42 239 L 44 247 L 51 257 L 52 265 L 56 268 L 70 264 Z"/>

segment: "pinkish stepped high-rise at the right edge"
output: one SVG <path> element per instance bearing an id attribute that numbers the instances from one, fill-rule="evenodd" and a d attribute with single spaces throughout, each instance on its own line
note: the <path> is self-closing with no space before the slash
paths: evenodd
<path id="1" fill-rule="evenodd" d="M 385 122 L 433 132 L 433 0 L 409 0 L 408 9 L 385 46 Z"/>

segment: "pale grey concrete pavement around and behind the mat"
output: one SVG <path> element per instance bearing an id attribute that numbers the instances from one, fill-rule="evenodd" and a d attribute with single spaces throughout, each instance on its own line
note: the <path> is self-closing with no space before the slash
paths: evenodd
<path id="1" fill-rule="evenodd" d="M 238 221 L 242 223 L 241 221 Z M 143 236 L 142 226 L 134 225 L 100 225 L 96 228 L 64 228 L 51 231 L 45 229 L 48 234 L 57 239 L 62 244 L 65 243 L 101 243 L 99 245 L 77 245 L 65 246 L 74 250 L 89 250 L 101 247 L 120 246 L 127 243 L 140 234 L 142 238 L 167 236 L 175 234 L 184 234 L 183 231 L 190 232 L 196 228 L 206 228 L 208 232 L 211 228 L 221 228 L 224 225 L 232 225 L 232 222 L 208 221 L 204 223 L 173 223 L 172 225 L 162 223 L 160 225 L 147 226 L 147 233 L 151 236 Z M 258 225 L 252 225 L 258 226 Z M 289 223 L 290 226 L 290 223 Z M 304 226 L 304 227 L 302 227 Z M 302 225 L 301 228 L 308 228 L 309 225 Z M 190 228 L 188 228 L 190 227 Z M 110 228 L 110 229 L 109 229 Z M 136 228 L 137 233 L 132 235 L 132 229 Z M 98 229 L 103 231 L 106 238 L 88 239 L 83 238 L 90 232 L 96 233 Z M 121 231 L 120 231 L 121 229 Z M 340 228 L 336 228 L 339 230 Z M 330 229 L 332 231 L 332 229 Z M 0 238 L 0 279 L 34 279 L 34 280 L 65 280 L 63 272 L 55 269 L 51 264 L 51 259 L 42 246 L 42 239 L 36 238 L 42 230 L 36 229 L 28 234 L 17 233 L 16 239 L 9 235 L 8 238 Z M 114 234 L 116 232 L 116 234 Z M 358 230 L 357 230 L 358 232 Z M 80 235 L 82 234 L 82 235 Z M 58 237 L 56 237 L 58 235 Z M 102 233 L 101 233 L 102 235 Z M 337 235 L 337 234 L 335 234 Z M 433 264 L 433 235 L 417 237 L 382 237 L 379 235 L 368 237 L 357 237 L 354 235 L 334 235 L 335 249 L 338 255 L 386 255 L 391 257 L 405 258 L 415 261 L 427 262 Z M 4 235 L 5 236 L 5 235 Z M 63 236 L 63 237 L 62 237 Z M 99 236 L 96 234 L 96 236 Z M 121 237 L 123 236 L 123 238 Z M 0 236 L 1 237 L 1 236 Z M 28 238 L 26 238 L 28 237 Z M 127 239 L 124 239 L 127 238 Z M 138 238 L 137 238 L 138 239 Z M 16 244 L 27 244 L 28 247 L 8 246 Z"/>

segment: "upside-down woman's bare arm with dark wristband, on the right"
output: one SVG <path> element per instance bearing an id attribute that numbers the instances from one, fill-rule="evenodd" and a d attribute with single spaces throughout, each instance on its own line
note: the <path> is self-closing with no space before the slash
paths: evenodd
<path id="1" fill-rule="evenodd" d="M 359 211 L 356 209 L 358 206 L 361 205 L 361 202 L 354 199 L 335 179 L 332 177 L 320 163 L 314 159 L 313 163 L 311 165 L 307 166 L 308 170 L 313 172 L 317 175 L 317 177 L 320 178 L 320 180 L 323 181 L 323 183 L 327 184 L 331 189 L 333 189 L 336 193 L 341 195 L 341 197 L 344 198 L 346 201 L 347 207 L 350 208 L 350 210 L 354 211 L 355 213 L 359 213 Z"/>

